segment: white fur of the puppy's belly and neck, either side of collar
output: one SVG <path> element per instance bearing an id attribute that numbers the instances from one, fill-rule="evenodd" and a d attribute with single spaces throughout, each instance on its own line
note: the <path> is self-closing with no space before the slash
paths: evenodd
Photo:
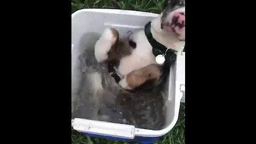
<path id="1" fill-rule="evenodd" d="M 180 51 L 184 47 L 185 42 L 181 42 L 176 34 L 166 33 L 161 29 L 161 15 L 152 21 L 151 26 L 151 33 L 157 42 L 175 51 Z M 131 55 L 121 59 L 118 67 L 118 73 L 124 76 L 132 70 L 156 63 L 155 56 L 152 52 L 153 47 L 148 42 L 144 30 L 135 31 L 131 35 L 131 38 L 137 46 Z"/>

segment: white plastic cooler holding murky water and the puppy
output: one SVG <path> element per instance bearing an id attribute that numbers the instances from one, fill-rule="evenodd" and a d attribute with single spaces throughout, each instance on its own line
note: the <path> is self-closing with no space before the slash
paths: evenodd
<path id="1" fill-rule="evenodd" d="M 71 15 L 71 55 L 72 55 L 72 81 L 75 79 L 74 61 L 81 54 L 83 47 L 76 44 L 81 41 L 85 33 L 98 33 L 107 27 L 114 27 L 119 34 L 125 36 L 127 31 L 143 28 L 146 23 L 158 14 L 113 10 L 113 9 L 83 9 Z M 90 42 L 88 42 L 90 43 Z M 78 132 L 92 137 L 103 137 L 116 140 L 134 140 L 142 143 L 151 143 L 169 132 L 176 124 L 179 116 L 180 102 L 185 102 L 185 52 L 178 52 L 177 61 L 171 67 L 169 77 L 166 127 L 162 130 L 140 129 L 133 125 L 93 121 L 90 119 L 71 119 L 71 126 Z"/>

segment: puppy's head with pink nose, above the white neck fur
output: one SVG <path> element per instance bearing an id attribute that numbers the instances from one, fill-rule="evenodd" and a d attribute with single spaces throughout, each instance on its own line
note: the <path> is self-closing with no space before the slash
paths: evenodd
<path id="1" fill-rule="evenodd" d="M 185 0 L 169 0 L 161 13 L 161 29 L 185 41 Z"/>

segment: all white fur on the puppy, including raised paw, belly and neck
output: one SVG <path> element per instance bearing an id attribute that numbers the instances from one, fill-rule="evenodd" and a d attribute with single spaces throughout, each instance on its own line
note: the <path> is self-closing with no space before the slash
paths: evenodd
<path id="1" fill-rule="evenodd" d="M 182 9 L 177 9 L 175 11 L 185 12 L 185 7 Z M 166 31 L 161 29 L 161 16 L 154 19 L 151 22 L 151 33 L 157 42 L 165 45 L 168 49 L 173 49 L 175 51 L 180 51 L 185 42 L 181 42 L 180 39 L 185 39 L 185 31 L 178 36 L 175 33 L 170 31 Z M 169 20 L 172 19 L 173 14 L 169 14 Z M 111 46 L 116 41 L 111 29 L 106 29 L 100 39 L 95 44 L 95 58 L 98 62 L 103 62 L 108 58 L 108 51 Z M 123 75 L 124 78 L 121 79 L 119 85 L 123 87 L 123 89 L 131 90 L 127 81 L 126 75 L 135 69 L 140 69 L 142 67 L 146 67 L 152 63 L 156 63 L 155 56 L 152 52 L 153 47 L 148 42 L 148 39 L 145 35 L 144 30 L 135 31 L 135 33 L 131 34 L 130 38 L 134 41 L 137 46 L 132 50 L 132 53 L 120 60 L 118 69 L 116 70 L 118 75 Z"/>

